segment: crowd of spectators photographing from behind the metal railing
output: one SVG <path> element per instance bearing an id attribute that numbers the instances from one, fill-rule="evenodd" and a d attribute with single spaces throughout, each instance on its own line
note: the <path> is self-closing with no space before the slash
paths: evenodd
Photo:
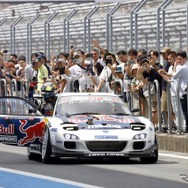
<path id="1" fill-rule="evenodd" d="M 145 116 L 151 100 L 152 122 L 158 126 L 157 93 L 154 80 L 159 83 L 163 128 L 168 128 L 167 82 L 170 82 L 172 127 L 178 127 L 176 84 L 180 83 L 181 116 L 184 117 L 185 129 L 188 132 L 187 82 L 188 62 L 185 51 L 175 52 L 164 47 L 160 52 L 144 49 L 120 50 L 117 54 L 100 46 L 97 40 L 92 41 L 91 54 L 81 49 L 70 47 L 68 53 L 52 54 L 48 60 L 43 52 L 31 55 L 31 62 L 25 56 L 9 54 L 4 62 L 4 51 L 0 53 L 0 79 L 5 79 L 7 90 L 10 90 L 12 79 L 17 82 L 17 93 L 21 91 L 21 81 L 29 82 L 27 97 L 33 93 L 40 94 L 45 82 L 54 84 L 56 93 L 63 92 L 109 92 L 123 96 L 129 108 L 140 108 L 140 115 Z M 160 60 L 163 59 L 163 64 Z M 150 85 L 150 86 L 149 86 Z M 149 88 L 150 94 L 149 95 Z M 3 88 L 1 87 L 1 92 Z M 150 98 L 151 97 L 151 98 Z"/>

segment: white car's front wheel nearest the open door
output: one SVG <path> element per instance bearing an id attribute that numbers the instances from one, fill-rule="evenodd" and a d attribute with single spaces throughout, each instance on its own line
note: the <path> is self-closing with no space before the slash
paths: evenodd
<path id="1" fill-rule="evenodd" d="M 42 143 L 42 162 L 44 164 L 52 163 L 51 152 L 52 152 L 52 147 L 50 143 L 50 133 L 49 130 L 46 129 Z"/>

